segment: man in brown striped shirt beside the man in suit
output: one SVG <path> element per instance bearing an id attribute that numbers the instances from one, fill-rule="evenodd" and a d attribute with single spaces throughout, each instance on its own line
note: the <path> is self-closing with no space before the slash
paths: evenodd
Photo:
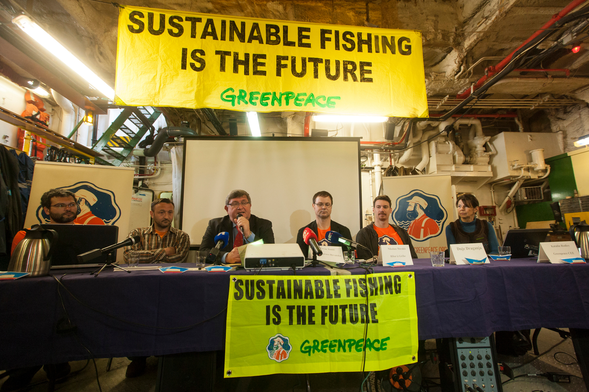
<path id="1" fill-rule="evenodd" d="M 138 250 L 140 263 L 182 263 L 190 250 L 190 237 L 171 226 L 174 203 L 170 199 L 157 199 L 151 203 L 153 225 L 137 227 L 129 236 L 141 236 L 141 242 L 125 247 L 125 262 L 130 250 Z"/>

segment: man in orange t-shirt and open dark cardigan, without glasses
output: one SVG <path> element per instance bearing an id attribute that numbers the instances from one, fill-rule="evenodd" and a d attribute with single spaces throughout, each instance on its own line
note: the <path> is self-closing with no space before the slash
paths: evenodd
<path id="1" fill-rule="evenodd" d="M 411 258 L 417 259 L 417 253 L 413 249 L 413 244 L 406 230 L 401 226 L 391 225 L 389 223 L 389 217 L 392 212 L 389 196 L 382 195 L 376 197 L 372 203 L 372 212 L 375 215 L 375 222 L 360 229 L 358 234 L 356 234 L 356 242 L 368 248 L 356 248 L 358 259 L 368 260 L 373 256 L 378 256 L 380 245 L 409 245 Z"/>

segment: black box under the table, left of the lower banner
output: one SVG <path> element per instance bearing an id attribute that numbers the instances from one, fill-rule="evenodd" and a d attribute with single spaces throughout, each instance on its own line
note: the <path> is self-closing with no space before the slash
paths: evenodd
<path id="1" fill-rule="evenodd" d="M 161 356 L 155 392 L 213 391 L 216 361 L 216 351 Z"/>

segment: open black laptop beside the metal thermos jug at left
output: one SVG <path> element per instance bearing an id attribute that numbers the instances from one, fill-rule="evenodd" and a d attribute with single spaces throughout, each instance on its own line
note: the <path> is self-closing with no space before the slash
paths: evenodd
<path id="1" fill-rule="evenodd" d="M 107 256 L 97 257 L 88 264 L 78 262 L 78 254 L 102 249 L 118 242 L 118 226 L 106 225 L 41 225 L 44 229 L 55 230 L 57 242 L 52 244 L 51 268 L 94 267 L 106 262 Z M 117 260 L 117 251 L 112 253 Z"/>

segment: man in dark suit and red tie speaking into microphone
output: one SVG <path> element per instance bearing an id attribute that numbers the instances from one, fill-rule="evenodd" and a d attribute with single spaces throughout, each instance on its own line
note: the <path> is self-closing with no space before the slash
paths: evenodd
<path id="1" fill-rule="evenodd" d="M 252 199 L 245 190 L 232 190 L 225 199 L 227 215 L 209 220 L 209 226 L 204 232 L 200 243 L 200 250 L 210 252 L 215 246 L 214 238 L 221 232 L 229 233 L 229 243 L 221 249 L 221 262 L 233 264 L 241 262 L 237 247 L 259 239 L 265 244 L 274 243 L 272 222 L 252 215 Z M 237 215 L 241 214 L 240 217 Z M 243 228 L 243 233 L 239 228 Z"/>

